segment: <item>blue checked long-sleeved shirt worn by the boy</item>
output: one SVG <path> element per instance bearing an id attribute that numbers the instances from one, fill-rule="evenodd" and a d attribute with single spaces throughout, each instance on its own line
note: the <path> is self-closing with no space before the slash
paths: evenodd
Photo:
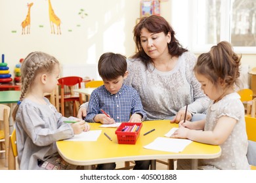
<path id="1" fill-rule="evenodd" d="M 139 93 L 125 84 L 116 94 L 108 92 L 104 85 L 96 88 L 91 93 L 85 121 L 95 122 L 93 118 L 96 114 L 102 114 L 101 109 L 116 122 L 128 122 L 130 115 L 135 113 L 143 116 L 142 121 L 146 118 Z"/>

